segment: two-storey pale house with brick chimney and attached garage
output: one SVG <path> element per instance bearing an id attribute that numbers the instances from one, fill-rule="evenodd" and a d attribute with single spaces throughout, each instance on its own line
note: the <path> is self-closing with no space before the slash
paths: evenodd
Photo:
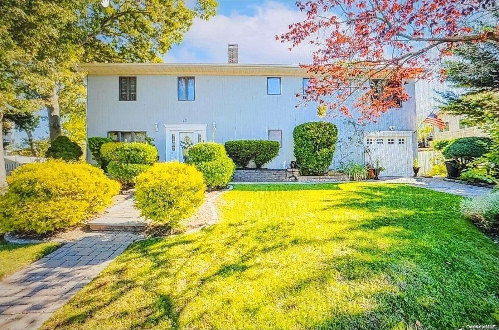
<path id="1" fill-rule="evenodd" d="M 239 64 L 237 45 L 229 45 L 227 64 L 91 63 L 77 69 L 87 73 L 87 136 L 153 138 L 163 162 L 182 162 L 183 148 L 204 141 L 275 140 L 279 154 L 265 167 L 285 168 L 294 160 L 293 129 L 318 120 L 338 127 L 331 168 L 379 158 L 384 175 L 410 175 L 417 157 L 414 98 L 365 126 L 319 118 L 317 105 L 304 106 L 296 97 L 307 83 L 305 70 Z M 414 81 L 405 87 L 414 96 Z"/>

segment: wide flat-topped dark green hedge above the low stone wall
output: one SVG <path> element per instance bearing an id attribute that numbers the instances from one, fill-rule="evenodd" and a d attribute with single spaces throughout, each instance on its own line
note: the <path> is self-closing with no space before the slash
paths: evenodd
<path id="1" fill-rule="evenodd" d="M 235 140 L 225 143 L 227 155 L 237 167 L 247 167 L 253 161 L 256 168 L 273 160 L 279 154 L 279 143 L 266 140 Z"/>

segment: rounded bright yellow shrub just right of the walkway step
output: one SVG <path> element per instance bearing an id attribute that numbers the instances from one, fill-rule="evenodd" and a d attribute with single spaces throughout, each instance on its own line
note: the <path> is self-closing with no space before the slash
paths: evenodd
<path id="1" fill-rule="evenodd" d="M 146 218 L 177 226 L 202 204 L 206 185 L 193 165 L 156 163 L 137 177 L 135 203 Z"/>

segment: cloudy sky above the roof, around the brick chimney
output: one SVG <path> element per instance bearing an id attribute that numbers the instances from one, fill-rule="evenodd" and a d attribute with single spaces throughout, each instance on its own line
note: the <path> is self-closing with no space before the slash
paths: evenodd
<path id="1" fill-rule="evenodd" d="M 227 63 L 228 44 L 239 44 L 239 63 L 298 64 L 311 60 L 307 44 L 294 48 L 275 40 L 304 13 L 276 1 L 250 5 L 252 15 L 233 11 L 209 21 L 195 19 L 180 46 L 163 59 L 167 63 Z"/>

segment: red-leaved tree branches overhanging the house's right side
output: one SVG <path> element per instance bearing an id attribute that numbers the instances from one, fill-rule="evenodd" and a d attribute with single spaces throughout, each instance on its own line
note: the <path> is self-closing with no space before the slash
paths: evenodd
<path id="1" fill-rule="evenodd" d="M 312 63 L 301 64 L 311 75 L 302 99 L 318 102 L 320 115 L 352 117 L 351 102 L 359 121 L 376 121 L 410 98 L 405 81 L 430 78 L 453 47 L 499 42 L 497 0 L 310 0 L 297 6 L 306 18 L 276 39 L 314 45 Z M 481 28 L 484 21 L 488 29 Z"/>

